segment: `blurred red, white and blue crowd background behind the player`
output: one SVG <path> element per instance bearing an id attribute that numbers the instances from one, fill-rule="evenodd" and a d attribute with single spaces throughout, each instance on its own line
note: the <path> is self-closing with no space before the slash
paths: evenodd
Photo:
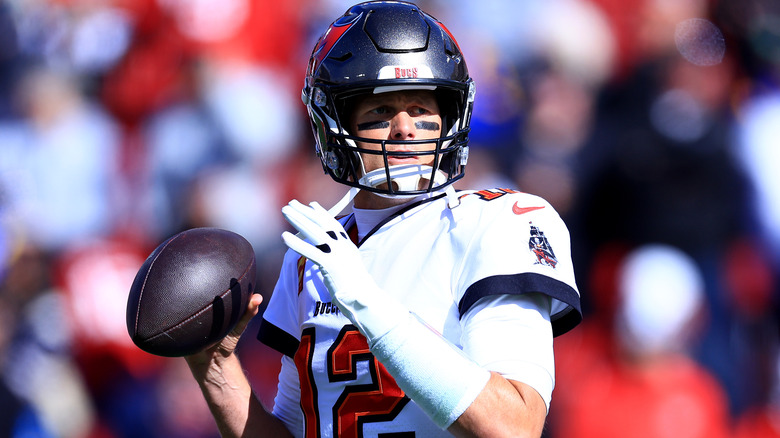
<path id="1" fill-rule="evenodd" d="M 215 437 L 127 293 L 187 228 L 277 278 L 289 199 L 332 205 L 300 103 L 341 0 L 0 0 L 0 437 Z M 467 177 L 548 199 L 585 320 L 549 437 L 778 437 L 780 3 L 426 0 L 477 83 Z M 277 353 L 240 354 L 270 406 Z"/>

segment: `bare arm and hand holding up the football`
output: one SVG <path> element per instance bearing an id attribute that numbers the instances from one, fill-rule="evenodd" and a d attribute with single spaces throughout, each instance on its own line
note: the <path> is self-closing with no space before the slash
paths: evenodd
<path id="1" fill-rule="evenodd" d="M 185 357 L 223 437 L 292 436 L 254 395 L 235 348 L 262 296 L 252 295 L 246 315 L 216 346 Z"/>

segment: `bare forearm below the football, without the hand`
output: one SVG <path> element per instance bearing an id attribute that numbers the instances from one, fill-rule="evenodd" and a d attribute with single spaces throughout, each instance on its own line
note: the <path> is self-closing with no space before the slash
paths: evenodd
<path id="1" fill-rule="evenodd" d="M 208 363 L 187 363 L 223 437 L 290 436 L 255 397 L 235 354 Z"/>

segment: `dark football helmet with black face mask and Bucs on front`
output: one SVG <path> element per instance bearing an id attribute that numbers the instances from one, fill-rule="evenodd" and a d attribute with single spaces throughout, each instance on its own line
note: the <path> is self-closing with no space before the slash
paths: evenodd
<path id="1" fill-rule="evenodd" d="M 413 89 L 436 95 L 443 122 L 439 138 L 375 140 L 349 132 L 355 97 Z M 441 22 L 411 3 L 371 1 L 351 7 L 319 38 L 302 100 L 317 155 L 331 178 L 383 196 L 415 196 L 463 177 L 474 93 L 460 48 Z M 380 150 L 360 143 L 379 144 Z M 388 165 L 387 145 L 402 143 L 435 144 L 433 150 L 414 152 L 431 155 L 432 166 Z M 361 154 L 381 154 L 384 168 L 366 173 Z"/>

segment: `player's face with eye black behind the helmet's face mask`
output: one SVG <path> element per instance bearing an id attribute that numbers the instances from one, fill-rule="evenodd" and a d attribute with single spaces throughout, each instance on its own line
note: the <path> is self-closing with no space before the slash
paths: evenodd
<path id="1" fill-rule="evenodd" d="M 350 120 L 351 132 L 359 137 L 376 140 L 426 140 L 441 136 L 439 105 L 432 91 L 404 90 L 361 97 Z M 376 143 L 360 143 L 365 149 L 381 150 Z M 435 143 L 388 144 L 388 151 L 433 151 Z M 363 154 L 365 171 L 384 167 L 382 155 Z M 390 165 L 432 165 L 434 156 L 405 155 L 388 157 Z"/>

